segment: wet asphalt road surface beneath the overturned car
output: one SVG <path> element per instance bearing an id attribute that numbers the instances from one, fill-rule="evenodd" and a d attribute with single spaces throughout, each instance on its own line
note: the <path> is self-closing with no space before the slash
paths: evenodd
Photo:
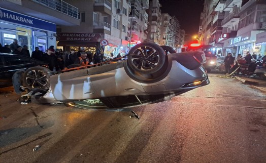
<path id="1" fill-rule="evenodd" d="M 130 109 L 21 105 L 2 89 L 0 162 L 266 162 L 266 92 L 217 75 L 132 109 L 140 119 Z"/>

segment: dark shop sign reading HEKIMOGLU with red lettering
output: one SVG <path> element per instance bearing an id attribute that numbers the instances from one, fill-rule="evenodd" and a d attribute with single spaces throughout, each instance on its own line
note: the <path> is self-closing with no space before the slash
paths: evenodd
<path id="1" fill-rule="evenodd" d="M 104 33 L 56 33 L 57 41 L 100 42 Z"/>

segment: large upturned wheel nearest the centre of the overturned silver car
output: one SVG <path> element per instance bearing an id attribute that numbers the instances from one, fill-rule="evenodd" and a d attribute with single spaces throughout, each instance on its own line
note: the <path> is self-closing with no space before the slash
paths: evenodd
<path id="1" fill-rule="evenodd" d="M 159 71 L 165 62 L 164 50 L 155 43 L 140 43 L 128 53 L 127 63 L 137 72 L 150 74 Z"/>

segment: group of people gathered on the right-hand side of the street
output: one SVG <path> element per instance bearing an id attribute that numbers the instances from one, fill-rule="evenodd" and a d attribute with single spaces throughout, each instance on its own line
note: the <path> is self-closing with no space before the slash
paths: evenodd
<path id="1" fill-rule="evenodd" d="M 236 58 L 233 57 L 231 53 L 228 53 L 227 56 L 224 58 L 224 68 L 226 75 L 233 72 L 239 66 L 239 64 L 250 65 L 252 61 L 256 60 L 262 60 L 262 64 L 266 66 L 266 56 L 262 57 L 260 54 L 257 55 L 255 52 L 253 53 L 253 55 L 251 55 L 248 51 L 245 57 L 242 57 L 241 54 L 238 54 Z"/>

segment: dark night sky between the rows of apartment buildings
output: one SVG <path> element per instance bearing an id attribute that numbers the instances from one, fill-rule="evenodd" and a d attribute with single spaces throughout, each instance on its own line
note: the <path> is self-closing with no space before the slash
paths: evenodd
<path id="1" fill-rule="evenodd" d="M 204 0 L 159 0 L 161 13 L 176 16 L 186 34 L 194 35 L 200 26 Z"/>

